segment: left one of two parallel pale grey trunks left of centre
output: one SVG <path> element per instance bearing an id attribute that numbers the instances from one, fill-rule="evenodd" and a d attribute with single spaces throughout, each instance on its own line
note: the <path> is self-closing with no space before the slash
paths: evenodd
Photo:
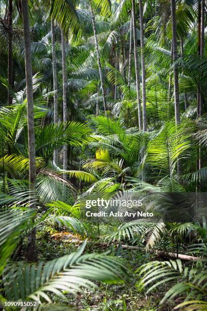
<path id="1" fill-rule="evenodd" d="M 57 65 L 56 65 L 56 52 L 55 52 L 55 26 L 54 21 L 51 19 L 51 35 L 52 35 L 52 72 L 53 72 L 53 91 L 54 91 L 54 123 L 58 123 L 57 112 Z M 57 165 L 58 157 L 57 150 L 54 150 L 53 161 Z"/>

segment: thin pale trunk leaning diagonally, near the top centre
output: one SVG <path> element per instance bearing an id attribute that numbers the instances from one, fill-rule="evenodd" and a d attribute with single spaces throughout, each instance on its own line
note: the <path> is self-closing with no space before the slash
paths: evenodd
<path id="1" fill-rule="evenodd" d="M 91 12 L 91 18 L 92 18 L 93 35 L 94 35 L 94 40 L 95 40 L 95 49 L 96 49 L 96 55 L 97 55 L 97 60 L 98 60 L 98 70 L 99 70 L 100 84 L 101 84 L 102 96 L 103 96 L 103 108 L 104 108 L 105 116 L 107 116 L 106 94 L 105 94 L 105 87 L 104 87 L 104 83 L 103 83 L 102 68 L 101 68 L 101 64 L 100 64 L 98 40 L 97 40 L 97 36 L 96 36 L 95 15 L 94 15 L 93 10 L 92 10 L 91 1 L 89 1 L 89 6 L 90 6 L 90 12 Z"/>

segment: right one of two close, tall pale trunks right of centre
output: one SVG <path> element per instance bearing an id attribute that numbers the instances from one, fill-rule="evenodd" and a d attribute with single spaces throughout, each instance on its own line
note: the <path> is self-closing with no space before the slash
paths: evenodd
<path id="1" fill-rule="evenodd" d="M 145 54 L 144 54 L 144 23 L 143 23 L 143 5 L 142 0 L 139 1 L 140 6 L 140 42 L 141 42 L 141 61 L 142 61 L 142 97 L 143 97 L 143 131 L 147 131 L 146 116 L 146 75 L 145 75 Z"/>

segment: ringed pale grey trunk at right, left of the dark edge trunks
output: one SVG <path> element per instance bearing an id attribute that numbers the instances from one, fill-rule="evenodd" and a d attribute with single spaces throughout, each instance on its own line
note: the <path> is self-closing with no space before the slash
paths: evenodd
<path id="1" fill-rule="evenodd" d="M 172 19 L 172 55 L 173 61 L 178 58 L 177 54 L 177 33 L 176 33 L 176 2 L 171 0 L 171 19 Z M 176 125 L 179 125 L 180 120 L 180 103 L 179 103 L 179 78 L 178 65 L 174 64 L 174 98 L 175 98 L 175 118 Z"/>

